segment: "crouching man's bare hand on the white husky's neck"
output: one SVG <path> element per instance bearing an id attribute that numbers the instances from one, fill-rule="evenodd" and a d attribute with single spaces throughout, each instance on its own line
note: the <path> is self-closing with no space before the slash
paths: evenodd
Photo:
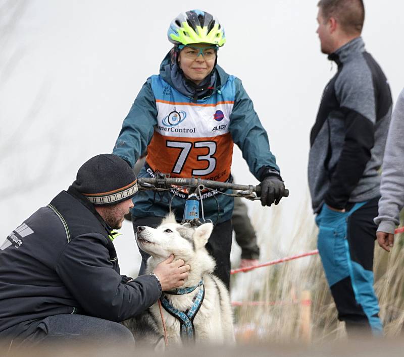
<path id="1" fill-rule="evenodd" d="M 168 291 L 184 284 L 188 278 L 189 269 L 190 266 L 184 265 L 182 259 L 174 261 L 174 255 L 171 254 L 156 267 L 153 273 L 158 276 L 162 291 Z"/>

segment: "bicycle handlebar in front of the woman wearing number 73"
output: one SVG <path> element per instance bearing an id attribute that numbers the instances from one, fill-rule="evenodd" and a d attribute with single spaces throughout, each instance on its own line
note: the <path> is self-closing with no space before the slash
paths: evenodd
<path id="1" fill-rule="evenodd" d="M 245 197 L 248 198 L 248 194 L 255 192 L 257 196 L 261 196 L 261 186 L 253 185 L 239 185 L 232 184 L 228 182 L 219 182 L 211 180 L 202 180 L 201 178 L 182 178 L 182 177 L 138 177 L 137 182 L 139 183 L 140 190 L 158 190 L 159 188 L 169 189 L 172 185 L 175 186 L 204 186 L 209 189 L 230 189 L 236 191 L 244 191 Z M 289 196 L 289 190 L 285 189 L 283 192 L 283 197 Z M 242 195 L 241 195 L 242 197 Z"/>

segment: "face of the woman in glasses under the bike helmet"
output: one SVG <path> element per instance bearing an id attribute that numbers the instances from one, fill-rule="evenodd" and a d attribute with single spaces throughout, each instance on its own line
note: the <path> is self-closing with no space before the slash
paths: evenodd
<path id="1" fill-rule="evenodd" d="M 212 72 L 215 59 L 216 48 L 208 43 L 185 46 L 178 56 L 178 62 L 185 78 L 195 84 L 199 84 Z"/>

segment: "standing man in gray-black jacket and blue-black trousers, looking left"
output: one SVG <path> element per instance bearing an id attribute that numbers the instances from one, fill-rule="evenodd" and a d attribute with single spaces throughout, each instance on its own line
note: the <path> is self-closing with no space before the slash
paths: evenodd
<path id="1" fill-rule="evenodd" d="M 321 0 L 317 33 L 337 73 L 328 82 L 310 137 L 309 186 L 318 249 L 339 320 L 382 333 L 373 289 L 373 249 L 390 89 L 361 38 L 362 0 Z"/>

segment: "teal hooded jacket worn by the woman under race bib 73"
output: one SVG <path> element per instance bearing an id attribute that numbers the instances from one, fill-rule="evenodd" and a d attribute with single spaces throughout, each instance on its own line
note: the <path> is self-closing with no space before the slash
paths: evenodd
<path id="1" fill-rule="evenodd" d="M 185 97 L 173 86 L 171 73 L 167 71 L 169 61 L 170 56 L 168 54 L 160 66 L 160 74 L 149 77 L 144 83 L 123 121 L 122 130 L 116 141 L 113 154 L 122 157 L 132 167 L 134 166 L 140 154 L 146 151 L 155 130 L 162 129 L 162 126 L 159 127 L 159 110 L 156 100 L 162 101 L 161 99 L 167 98 L 167 94 L 170 102 L 177 103 L 186 101 L 188 103 L 212 105 L 212 103 L 231 101 L 234 104 L 229 115 L 228 131 L 231 134 L 232 141 L 241 149 L 243 158 L 247 162 L 251 173 L 259 181 L 269 175 L 268 172 L 280 174 L 275 156 L 270 151 L 267 132 L 263 128 L 254 110 L 254 105 L 242 86 L 241 80 L 228 75 L 217 65 L 215 68 L 216 83 L 214 90 L 210 91 L 206 97 L 195 101 L 191 97 Z M 163 129 L 167 130 L 167 128 Z M 232 152 L 232 148 L 229 148 L 229 152 Z M 165 160 L 164 153 L 161 155 L 161 160 Z M 140 170 L 139 177 L 153 175 L 153 170 L 147 166 L 146 158 L 146 165 Z M 231 181 L 231 176 L 229 181 Z M 164 217 L 169 211 L 171 201 L 171 208 L 176 213 L 177 219 L 181 220 L 185 199 L 177 196 L 172 199 L 172 196 L 169 192 L 164 195 L 155 194 L 153 191 L 139 192 L 133 198 L 134 208 L 132 214 L 135 217 Z M 233 198 L 219 194 L 204 199 L 203 204 L 206 219 L 212 219 L 215 223 L 231 218 Z"/>

